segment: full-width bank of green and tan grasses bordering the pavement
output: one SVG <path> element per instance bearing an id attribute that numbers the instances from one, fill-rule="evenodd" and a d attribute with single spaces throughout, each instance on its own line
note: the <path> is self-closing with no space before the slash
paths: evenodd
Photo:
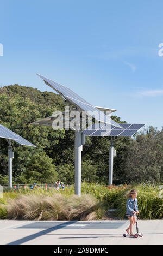
<path id="1" fill-rule="evenodd" d="M 6 190 L 0 199 L 1 219 L 55 219 L 92 220 L 102 219 L 109 208 L 117 209 L 117 217 L 126 218 L 125 194 L 135 188 L 141 219 L 163 218 L 163 199 L 159 197 L 159 186 L 132 184 L 123 186 L 101 186 L 82 183 L 82 196 L 74 195 L 74 187 L 65 190 L 20 189 Z"/>

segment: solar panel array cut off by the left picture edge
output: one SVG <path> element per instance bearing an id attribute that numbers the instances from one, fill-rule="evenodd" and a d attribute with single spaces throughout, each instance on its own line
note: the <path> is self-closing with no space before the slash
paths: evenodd
<path id="1" fill-rule="evenodd" d="M 34 144 L 30 143 L 28 140 L 25 140 L 20 135 L 12 132 L 12 130 L 10 130 L 7 127 L 2 126 L 2 125 L 0 125 L 0 138 L 14 140 L 18 144 L 21 144 L 24 146 L 36 147 Z"/>

